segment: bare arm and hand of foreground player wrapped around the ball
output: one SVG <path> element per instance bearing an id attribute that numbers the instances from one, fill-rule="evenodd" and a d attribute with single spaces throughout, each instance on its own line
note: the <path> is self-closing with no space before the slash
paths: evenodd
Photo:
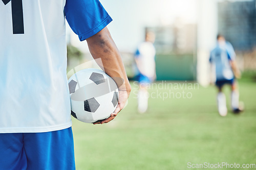
<path id="1" fill-rule="evenodd" d="M 106 72 L 106 74 L 115 80 L 119 90 L 119 102 L 114 113 L 112 113 L 108 119 L 96 123 L 104 124 L 114 119 L 123 109 L 131 92 L 131 85 L 127 79 L 121 55 L 108 28 L 105 27 L 97 34 L 88 38 L 87 43 L 93 58 L 101 59 L 102 63 L 98 62 L 98 65 Z"/>

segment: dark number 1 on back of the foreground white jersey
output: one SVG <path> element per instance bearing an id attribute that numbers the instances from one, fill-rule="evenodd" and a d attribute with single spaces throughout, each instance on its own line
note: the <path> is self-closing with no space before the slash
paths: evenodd
<path id="1" fill-rule="evenodd" d="M 2 0 L 6 5 L 12 1 L 12 31 L 13 34 L 24 34 L 22 0 Z"/>

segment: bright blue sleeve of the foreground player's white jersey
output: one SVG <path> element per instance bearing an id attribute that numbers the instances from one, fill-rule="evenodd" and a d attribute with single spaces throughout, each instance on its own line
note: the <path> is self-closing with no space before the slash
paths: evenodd
<path id="1" fill-rule="evenodd" d="M 67 0 L 64 11 L 80 41 L 98 33 L 112 21 L 98 0 Z"/>

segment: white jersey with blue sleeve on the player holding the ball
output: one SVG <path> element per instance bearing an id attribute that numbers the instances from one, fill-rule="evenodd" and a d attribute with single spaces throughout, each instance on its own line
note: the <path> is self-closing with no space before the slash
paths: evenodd
<path id="1" fill-rule="evenodd" d="M 0 133 L 71 126 L 65 17 L 81 41 L 112 21 L 98 0 L 0 1 Z"/>

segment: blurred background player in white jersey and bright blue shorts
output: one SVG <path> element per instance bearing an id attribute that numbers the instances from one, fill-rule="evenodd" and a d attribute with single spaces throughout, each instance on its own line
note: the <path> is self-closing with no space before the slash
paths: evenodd
<path id="1" fill-rule="evenodd" d="M 155 34 L 147 32 L 145 41 L 140 43 L 135 54 L 135 61 L 139 74 L 136 76 L 139 82 L 138 111 L 144 113 L 148 106 L 147 86 L 156 79 L 156 50 L 153 45 Z"/>

